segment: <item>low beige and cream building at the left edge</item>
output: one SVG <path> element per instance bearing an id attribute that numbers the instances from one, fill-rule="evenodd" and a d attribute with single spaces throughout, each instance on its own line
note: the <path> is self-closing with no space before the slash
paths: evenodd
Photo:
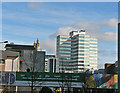
<path id="1" fill-rule="evenodd" d="M 1 51 L 0 58 L 1 71 L 16 72 L 19 71 L 19 53 L 13 51 Z"/>

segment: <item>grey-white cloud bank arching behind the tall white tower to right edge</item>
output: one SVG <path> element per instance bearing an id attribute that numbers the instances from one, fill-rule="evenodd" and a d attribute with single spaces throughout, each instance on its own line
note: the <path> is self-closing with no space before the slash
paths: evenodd
<path id="1" fill-rule="evenodd" d="M 116 25 L 117 19 L 115 18 L 103 20 L 102 22 L 98 23 L 77 22 L 76 24 L 71 26 L 60 27 L 57 32 L 50 35 L 49 38 L 45 41 L 42 41 L 41 45 L 43 49 L 55 53 L 56 41 L 54 39 L 57 35 L 68 35 L 69 32 L 80 29 L 85 29 L 87 34 L 90 34 L 92 37 L 97 38 L 99 41 L 115 42 L 117 40 L 117 33 L 115 33 L 114 31 L 101 32 L 101 29 L 106 29 L 106 27 L 115 28 Z"/>

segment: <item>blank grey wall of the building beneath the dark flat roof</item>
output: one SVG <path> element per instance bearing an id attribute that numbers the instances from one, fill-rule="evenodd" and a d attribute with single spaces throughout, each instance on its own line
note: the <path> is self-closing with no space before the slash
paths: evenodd
<path id="1" fill-rule="evenodd" d="M 35 68 L 36 72 L 44 72 L 45 70 L 45 52 L 44 51 L 32 51 L 24 50 L 22 51 L 21 59 L 21 70 L 26 72 L 27 69 L 32 71 L 32 68 Z"/>

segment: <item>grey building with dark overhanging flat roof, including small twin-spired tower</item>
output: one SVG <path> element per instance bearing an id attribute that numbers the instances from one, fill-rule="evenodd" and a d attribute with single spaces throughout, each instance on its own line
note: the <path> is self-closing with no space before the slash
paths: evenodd
<path id="1" fill-rule="evenodd" d="M 34 45 L 16 45 L 6 44 L 7 51 L 19 52 L 20 71 L 26 72 L 28 69 L 34 72 L 45 71 L 45 51 L 40 51 L 40 43 L 34 42 Z"/>

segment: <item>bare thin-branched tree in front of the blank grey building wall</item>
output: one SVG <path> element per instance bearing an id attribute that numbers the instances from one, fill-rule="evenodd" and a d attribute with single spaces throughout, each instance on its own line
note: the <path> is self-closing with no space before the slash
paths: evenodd
<path id="1" fill-rule="evenodd" d="M 38 72 L 44 71 L 44 64 L 40 64 L 41 60 L 40 52 L 36 49 L 33 51 L 27 51 L 27 53 L 24 53 L 25 55 L 22 57 L 24 64 L 26 65 L 27 69 L 26 71 L 29 72 L 29 74 L 26 74 L 26 77 L 28 78 L 29 86 L 31 87 L 31 93 L 34 91 L 34 87 L 39 82 L 37 81 L 38 78 Z M 27 56 L 27 57 L 26 57 Z M 23 67 L 25 69 L 25 67 Z M 30 79 L 29 79 L 30 78 Z"/>

